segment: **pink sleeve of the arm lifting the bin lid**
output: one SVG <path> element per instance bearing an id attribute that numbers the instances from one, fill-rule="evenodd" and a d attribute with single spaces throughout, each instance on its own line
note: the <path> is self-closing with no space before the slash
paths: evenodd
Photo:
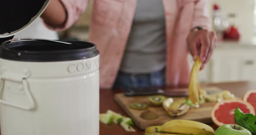
<path id="1" fill-rule="evenodd" d="M 89 0 L 60 0 L 60 1 L 62 2 L 67 12 L 66 22 L 59 27 L 52 27 L 45 23 L 45 25 L 49 29 L 53 29 L 56 31 L 68 29 L 69 27 L 71 27 L 79 19 L 80 14 L 82 14 L 85 11 L 89 2 Z"/>

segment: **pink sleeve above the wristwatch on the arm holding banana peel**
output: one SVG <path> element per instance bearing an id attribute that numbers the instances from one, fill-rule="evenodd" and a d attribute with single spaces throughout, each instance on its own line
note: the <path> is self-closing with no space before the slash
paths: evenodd
<path id="1" fill-rule="evenodd" d="M 193 28 L 200 26 L 204 29 L 212 29 L 211 19 L 208 13 L 207 0 L 198 0 L 195 5 Z"/>

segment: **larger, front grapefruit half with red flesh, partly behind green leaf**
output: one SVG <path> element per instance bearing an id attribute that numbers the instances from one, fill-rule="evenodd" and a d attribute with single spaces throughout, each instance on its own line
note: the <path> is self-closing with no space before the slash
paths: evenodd
<path id="1" fill-rule="evenodd" d="M 244 113 L 255 115 L 253 106 L 243 100 L 223 100 L 217 103 L 212 109 L 211 118 L 213 122 L 218 126 L 235 124 L 234 114 L 237 107 Z"/>

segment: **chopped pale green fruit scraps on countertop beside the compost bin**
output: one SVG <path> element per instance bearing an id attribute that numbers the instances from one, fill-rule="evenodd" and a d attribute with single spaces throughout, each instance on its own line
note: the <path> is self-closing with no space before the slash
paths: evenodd
<path id="1" fill-rule="evenodd" d="M 131 118 L 121 116 L 120 114 L 115 113 L 111 110 L 108 110 L 106 113 L 100 114 L 99 120 L 104 124 L 110 124 L 113 122 L 115 124 L 121 125 L 126 131 L 135 132 L 135 129 L 131 127 L 131 125 L 133 125 Z"/>

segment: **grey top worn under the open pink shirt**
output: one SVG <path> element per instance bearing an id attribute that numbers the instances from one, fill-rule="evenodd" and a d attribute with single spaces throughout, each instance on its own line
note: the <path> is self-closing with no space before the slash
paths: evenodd
<path id="1" fill-rule="evenodd" d="M 120 70 L 151 73 L 166 65 L 166 34 L 162 0 L 138 0 Z"/>

